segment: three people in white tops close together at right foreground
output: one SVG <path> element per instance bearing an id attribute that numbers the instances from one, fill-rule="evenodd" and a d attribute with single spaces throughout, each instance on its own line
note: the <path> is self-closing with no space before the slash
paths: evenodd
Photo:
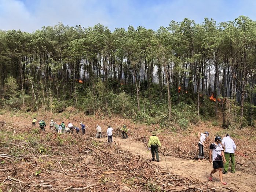
<path id="1" fill-rule="evenodd" d="M 198 133 L 200 140 L 198 142 L 199 154 L 198 161 L 201 162 L 204 159 L 204 141 L 206 137 L 209 136 L 208 132 Z M 223 147 L 225 151 L 223 152 Z M 226 134 L 226 137 L 223 139 L 220 136 L 215 137 L 215 142 L 210 145 L 209 152 L 209 162 L 213 163 L 213 170 L 209 174 L 209 181 L 212 181 L 212 175 L 219 171 L 220 182 L 224 185 L 227 185 L 226 182 L 223 182 L 222 174 L 227 174 L 229 167 L 229 159 L 231 161 L 231 172 L 235 173 L 235 150 L 237 149 L 235 142 L 230 138 L 229 134 Z M 222 162 L 223 158 L 223 162 Z M 224 170 L 222 171 L 222 168 Z"/>

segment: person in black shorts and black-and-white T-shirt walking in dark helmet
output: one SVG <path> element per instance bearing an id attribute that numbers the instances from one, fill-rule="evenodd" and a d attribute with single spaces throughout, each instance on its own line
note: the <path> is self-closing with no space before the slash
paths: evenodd
<path id="1" fill-rule="evenodd" d="M 210 145 L 209 162 L 213 163 L 213 170 L 209 175 L 209 181 L 212 181 L 212 174 L 216 173 L 219 170 L 220 182 L 223 185 L 227 185 L 227 183 L 222 181 L 222 168 L 224 167 L 222 162 L 222 157 L 223 157 L 224 163 L 226 163 L 226 160 L 225 160 L 222 145 L 220 144 L 221 141 L 222 141 L 221 137 L 216 136 L 215 142 Z"/>

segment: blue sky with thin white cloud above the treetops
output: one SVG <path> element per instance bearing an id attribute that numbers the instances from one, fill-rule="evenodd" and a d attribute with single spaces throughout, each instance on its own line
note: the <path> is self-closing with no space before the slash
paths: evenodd
<path id="1" fill-rule="evenodd" d="M 98 23 L 115 28 L 145 27 L 157 31 L 184 18 L 234 21 L 240 15 L 256 21 L 256 0 L 0 0 L 0 30 L 33 33 L 42 27 Z"/>

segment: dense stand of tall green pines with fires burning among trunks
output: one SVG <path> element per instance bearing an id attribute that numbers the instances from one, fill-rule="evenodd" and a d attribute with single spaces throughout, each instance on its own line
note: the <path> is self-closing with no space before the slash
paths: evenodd
<path id="1" fill-rule="evenodd" d="M 186 129 L 256 119 L 256 22 L 185 18 L 157 32 L 129 26 L 0 30 L 1 108 L 84 111 Z"/>

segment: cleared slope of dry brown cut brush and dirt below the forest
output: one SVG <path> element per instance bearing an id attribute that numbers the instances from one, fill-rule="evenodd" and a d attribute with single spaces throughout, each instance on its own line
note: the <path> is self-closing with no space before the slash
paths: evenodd
<path id="1" fill-rule="evenodd" d="M 32 128 L 33 113 L 0 116 L 0 189 L 2 191 L 255 191 L 255 130 L 223 130 L 212 122 L 201 122 L 186 131 L 160 129 L 158 125 L 135 124 L 129 119 L 85 116 L 62 112 L 37 116 L 57 123 L 84 122 L 85 135 L 54 134 Z M 95 139 L 95 125 L 102 139 Z M 215 123 L 216 124 L 216 123 Z M 220 123 L 219 123 L 220 124 Z M 107 143 L 107 125 L 114 128 L 113 144 Z M 129 138 L 121 139 L 122 125 Z M 147 141 L 157 130 L 161 141 L 160 162 L 150 162 Z M 227 132 L 237 144 L 236 173 L 219 183 L 217 173 L 208 181 L 212 164 L 197 162 L 197 133 L 208 131 L 209 145 L 216 134 Z M 207 152 L 206 152 L 207 154 Z M 206 155 L 207 156 L 207 155 Z"/>

